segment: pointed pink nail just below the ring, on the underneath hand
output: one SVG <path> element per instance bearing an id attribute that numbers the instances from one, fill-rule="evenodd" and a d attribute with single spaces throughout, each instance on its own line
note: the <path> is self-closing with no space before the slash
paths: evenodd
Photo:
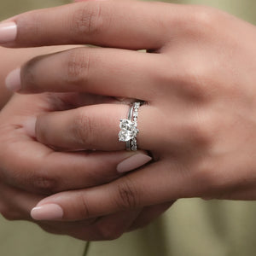
<path id="1" fill-rule="evenodd" d="M 123 160 L 117 166 L 118 172 L 130 172 L 147 164 L 152 158 L 148 154 L 133 154 L 131 157 Z"/>

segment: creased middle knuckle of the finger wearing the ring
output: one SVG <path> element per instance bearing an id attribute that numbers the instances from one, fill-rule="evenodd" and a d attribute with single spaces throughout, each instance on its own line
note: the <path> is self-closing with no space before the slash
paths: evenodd
<path id="1" fill-rule="evenodd" d="M 78 143 L 86 149 L 91 149 L 93 142 L 92 121 L 82 109 L 79 110 L 73 123 L 73 134 Z"/>

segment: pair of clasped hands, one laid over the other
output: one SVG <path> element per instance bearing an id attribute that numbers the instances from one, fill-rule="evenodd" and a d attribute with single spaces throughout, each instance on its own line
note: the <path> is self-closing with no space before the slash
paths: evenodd
<path id="1" fill-rule="evenodd" d="M 117 235 L 95 231 L 106 219 L 119 216 L 120 235 L 179 198 L 256 198 L 255 26 L 206 7 L 112 1 L 11 22 L 6 47 L 102 46 L 42 55 L 7 79 L 10 89 L 34 95 L 16 95 L 1 113 L 1 176 L 31 198 L 26 209 L 20 198 L 26 214 L 37 205 L 39 224 L 67 233 L 64 227 L 89 222 L 68 234 L 108 239 Z M 128 111 L 120 97 L 147 103 L 139 110 L 137 154 L 141 165 L 151 160 L 146 151 L 153 157 L 125 175 L 116 166 L 133 153 L 118 141 Z M 42 192 L 54 195 L 38 202 Z"/>

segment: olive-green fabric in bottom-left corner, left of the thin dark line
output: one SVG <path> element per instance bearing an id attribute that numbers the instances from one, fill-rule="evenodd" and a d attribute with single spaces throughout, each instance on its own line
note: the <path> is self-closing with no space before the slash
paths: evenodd
<path id="1" fill-rule="evenodd" d="M 82 256 L 84 246 L 84 241 L 50 235 L 36 224 L 10 222 L 0 217 L 1 256 Z"/>

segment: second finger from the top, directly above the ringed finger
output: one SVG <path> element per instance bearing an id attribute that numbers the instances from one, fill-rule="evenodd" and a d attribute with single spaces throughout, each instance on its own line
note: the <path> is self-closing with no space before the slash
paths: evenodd
<path id="1" fill-rule="evenodd" d="M 32 59 L 21 71 L 10 73 L 6 85 L 19 92 L 78 91 L 148 101 L 153 71 L 160 67 L 157 57 L 125 49 L 80 47 Z"/>

